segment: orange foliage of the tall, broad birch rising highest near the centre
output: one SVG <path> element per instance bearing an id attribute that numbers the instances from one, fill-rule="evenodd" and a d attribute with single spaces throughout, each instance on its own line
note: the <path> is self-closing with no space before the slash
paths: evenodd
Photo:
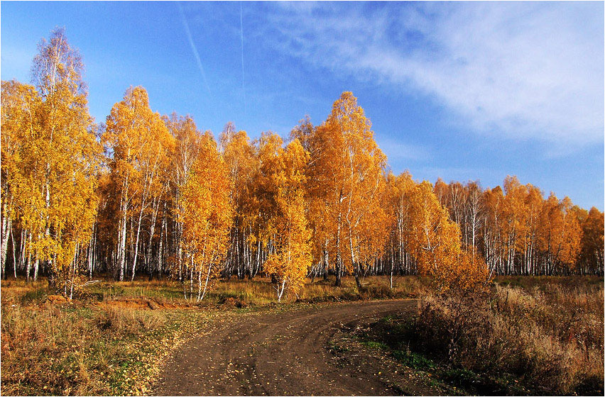
<path id="1" fill-rule="evenodd" d="M 324 249 L 336 258 L 337 274 L 343 264 L 354 272 L 359 286 L 362 267 L 378 256 L 386 242 L 386 213 L 381 206 L 386 156 L 351 92 L 342 93 L 327 121 L 313 132 L 305 121 L 293 135 L 304 138 L 315 157 L 308 187 L 312 218 L 316 225 L 318 218 L 325 223 L 315 228 L 320 236 L 316 244 L 325 240 Z"/>

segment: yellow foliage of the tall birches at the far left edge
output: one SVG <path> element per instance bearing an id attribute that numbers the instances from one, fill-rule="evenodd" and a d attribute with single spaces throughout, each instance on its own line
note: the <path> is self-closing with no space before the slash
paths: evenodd
<path id="1" fill-rule="evenodd" d="M 28 253 L 48 262 L 64 294 L 74 285 L 75 257 L 87 245 L 97 213 L 100 147 L 82 68 L 58 29 L 38 45 L 36 88 L 2 82 L 3 215 L 27 230 Z"/>

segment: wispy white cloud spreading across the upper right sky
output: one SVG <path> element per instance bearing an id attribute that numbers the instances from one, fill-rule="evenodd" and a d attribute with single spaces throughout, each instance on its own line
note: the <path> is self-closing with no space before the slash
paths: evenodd
<path id="1" fill-rule="evenodd" d="M 599 3 L 295 4 L 258 38 L 316 67 L 420 90 L 478 133 L 602 142 Z M 260 25 L 259 25 L 260 26 Z"/>

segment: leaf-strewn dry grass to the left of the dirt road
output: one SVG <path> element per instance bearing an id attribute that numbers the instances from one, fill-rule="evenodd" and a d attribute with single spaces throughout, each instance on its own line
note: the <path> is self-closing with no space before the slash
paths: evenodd
<path id="1" fill-rule="evenodd" d="M 2 287 L 3 395 L 146 393 L 163 358 L 204 320 L 194 311 L 45 306 L 48 290 L 36 287 Z"/>

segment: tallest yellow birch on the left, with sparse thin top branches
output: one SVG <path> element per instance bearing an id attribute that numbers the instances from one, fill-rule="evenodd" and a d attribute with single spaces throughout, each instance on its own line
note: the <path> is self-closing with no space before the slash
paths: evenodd
<path id="1" fill-rule="evenodd" d="M 28 149 L 27 194 L 34 204 L 31 211 L 36 211 L 30 219 L 37 217 L 43 226 L 30 231 L 30 247 L 48 264 L 51 283 L 66 295 L 80 272 L 76 257 L 90 240 L 97 211 L 99 145 L 88 113 L 83 68 L 62 29 L 40 42 L 32 66 L 41 100 L 35 113 L 38 126 L 30 129 L 35 135 Z"/>

